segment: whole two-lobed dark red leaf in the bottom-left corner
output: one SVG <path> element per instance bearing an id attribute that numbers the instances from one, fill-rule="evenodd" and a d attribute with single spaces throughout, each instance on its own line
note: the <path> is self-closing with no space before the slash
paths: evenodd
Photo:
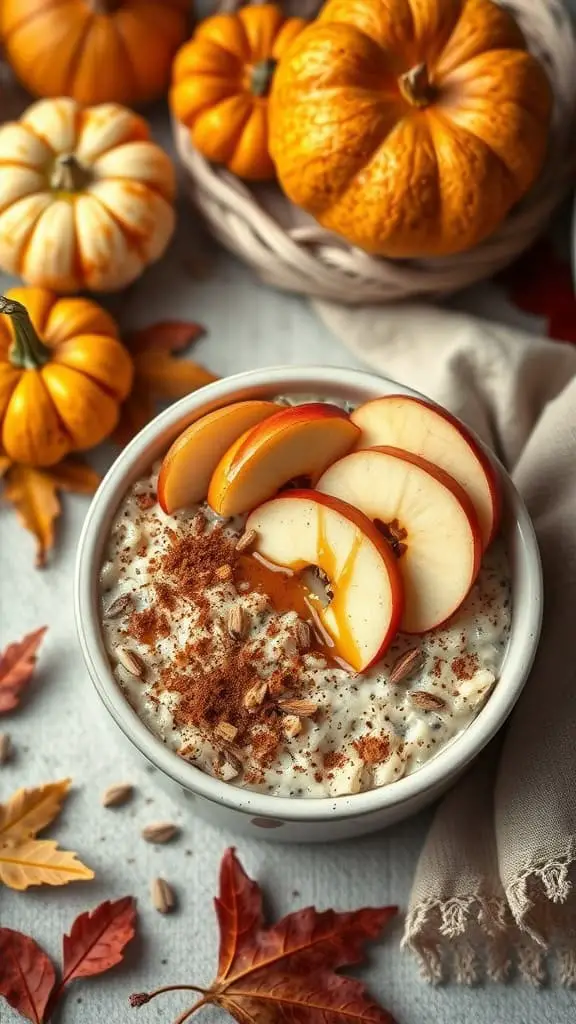
<path id="1" fill-rule="evenodd" d="M 119 964 L 134 931 L 135 905 L 130 896 L 81 913 L 70 935 L 64 936 L 64 971 L 56 986 L 54 967 L 38 943 L 29 935 L 0 928 L 0 995 L 32 1024 L 46 1024 L 65 987 Z"/>

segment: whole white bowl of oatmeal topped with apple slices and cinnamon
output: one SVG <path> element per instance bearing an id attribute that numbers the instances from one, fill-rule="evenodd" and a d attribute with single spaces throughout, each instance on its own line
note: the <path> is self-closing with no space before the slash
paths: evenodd
<path id="1" fill-rule="evenodd" d="M 150 423 L 105 477 L 75 581 L 89 676 L 194 813 L 282 842 L 448 788 L 535 654 L 537 543 L 457 420 L 369 373 L 280 367 Z"/>

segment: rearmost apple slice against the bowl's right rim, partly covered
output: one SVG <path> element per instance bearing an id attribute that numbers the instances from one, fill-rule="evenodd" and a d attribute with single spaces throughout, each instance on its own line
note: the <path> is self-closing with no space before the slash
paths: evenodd
<path id="1" fill-rule="evenodd" d="M 351 419 L 362 434 L 358 449 L 384 444 L 422 456 L 446 470 L 468 495 L 486 549 L 498 530 L 500 485 L 477 439 L 444 409 L 404 394 L 383 395 L 360 406 Z"/>

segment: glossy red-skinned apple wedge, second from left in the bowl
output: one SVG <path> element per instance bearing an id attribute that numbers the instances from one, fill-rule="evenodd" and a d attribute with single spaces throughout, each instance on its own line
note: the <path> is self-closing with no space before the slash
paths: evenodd
<path id="1" fill-rule="evenodd" d="M 238 515 L 295 478 L 303 476 L 314 485 L 359 436 L 359 427 L 336 406 L 318 401 L 283 409 L 222 456 L 210 480 L 208 504 L 218 515 Z"/>

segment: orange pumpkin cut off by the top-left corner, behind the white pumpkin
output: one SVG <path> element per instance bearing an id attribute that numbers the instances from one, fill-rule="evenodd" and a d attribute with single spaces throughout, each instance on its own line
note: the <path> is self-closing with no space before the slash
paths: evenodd
<path id="1" fill-rule="evenodd" d="M 7 57 L 37 96 L 134 105 L 162 95 L 190 0 L 0 0 Z"/>

